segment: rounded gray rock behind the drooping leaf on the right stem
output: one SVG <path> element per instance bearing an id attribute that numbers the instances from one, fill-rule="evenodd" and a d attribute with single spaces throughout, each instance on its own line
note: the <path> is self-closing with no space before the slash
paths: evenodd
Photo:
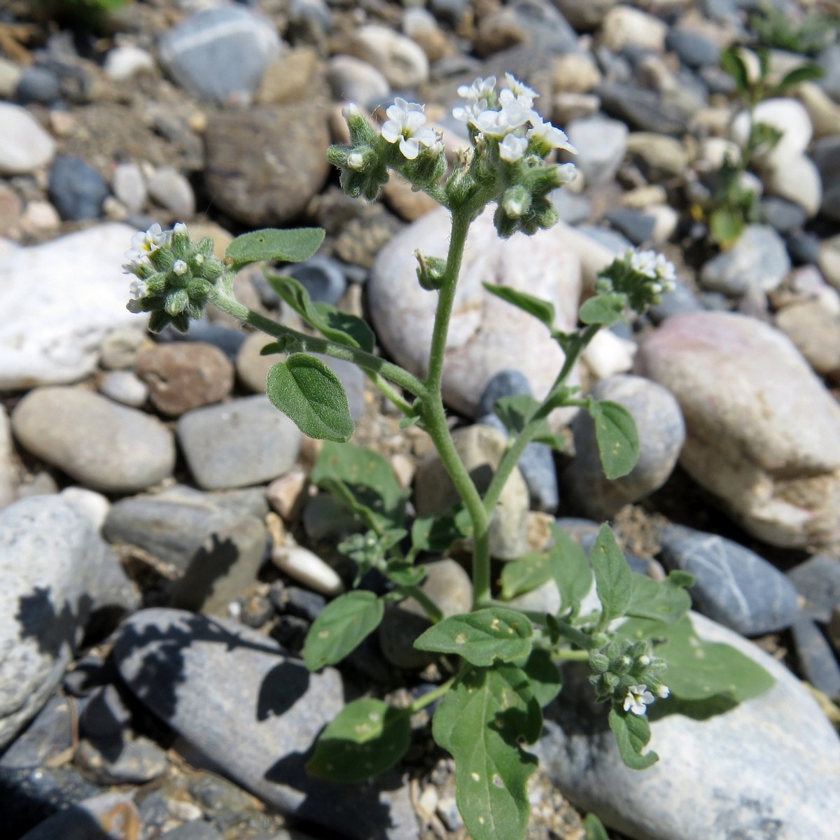
<path id="1" fill-rule="evenodd" d="M 617 402 L 636 421 L 641 452 L 628 475 L 607 480 L 588 412 L 572 423 L 575 458 L 560 475 L 564 497 L 587 517 L 610 519 L 622 508 L 658 490 L 674 470 L 685 443 L 680 406 L 662 386 L 640 376 L 610 376 L 591 391 L 597 400 Z"/>

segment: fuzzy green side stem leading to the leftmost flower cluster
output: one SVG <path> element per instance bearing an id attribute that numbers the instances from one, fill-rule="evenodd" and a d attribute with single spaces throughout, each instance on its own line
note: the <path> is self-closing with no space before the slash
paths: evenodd
<path id="1" fill-rule="evenodd" d="M 392 365 L 391 362 L 386 362 L 386 360 L 371 353 L 365 353 L 364 350 L 349 347 L 347 344 L 339 344 L 328 339 L 299 333 L 284 324 L 272 321 L 271 318 L 266 318 L 265 315 L 260 315 L 260 312 L 254 312 L 253 309 L 244 306 L 232 295 L 226 294 L 224 289 L 221 289 L 217 296 L 213 298 L 213 303 L 223 312 L 228 312 L 228 315 L 233 315 L 234 318 L 239 318 L 243 323 L 262 330 L 272 338 L 292 339 L 296 351 L 307 350 L 310 353 L 320 353 L 333 359 L 353 362 L 354 365 L 359 365 L 365 371 L 384 376 L 414 396 L 425 396 L 426 394 L 423 382 L 407 370 L 403 370 L 399 365 Z"/>

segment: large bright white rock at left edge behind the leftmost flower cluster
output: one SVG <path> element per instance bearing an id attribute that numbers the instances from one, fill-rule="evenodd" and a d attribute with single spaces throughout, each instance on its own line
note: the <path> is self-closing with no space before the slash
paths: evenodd
<path id="1" fill-rule="evenodd" d="M 0 389 L 79 380 L 108 332 L 142 321 L 120 269 L 132 233 L 101 224 L 0 259 Z"/>

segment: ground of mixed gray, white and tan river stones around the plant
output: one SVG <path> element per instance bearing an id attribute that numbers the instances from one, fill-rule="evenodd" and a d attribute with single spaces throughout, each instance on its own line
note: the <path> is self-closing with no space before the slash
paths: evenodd
<path id="1" fill-rule="evenodd" d="M 654 722 L 662 760 L 639 774 L 570 669 L 538 743 L 528 837 L 580 840 L 587 811 L 616 840 L 836 837 L 838 9 L 774 5 L 784 26 L 753 0 L 135 0 L 81 18 L 81 2 L 0 4 L 4 836 L 465 837 L 425 719 L 386 780 L 303 773 L 344 699 L 405 704 L 441 675 L 412 650 L 407 612 L 340 670 L 307 675 L 297 654 L 353 578 L 335 546 L 356 524 L 309 485 L 318 444 L 261 396 L 264 337 L 210 312 L 153 339 L 119 266 L 153 222 L 186 222 L 220 254 L 249 229 L 322 226 L 319 255 L 290 270 L 370 316 L 381 353 L 417 370 L 433 299 L 412 253 L 443 253 L 446 218 L 398 181 L 374 203 L 344 197 L 325 151 L 344 139 L 344 102 L 373 112 L 403 95 L 427 103 L 454 155 L 456 87 L 512 71 L 578 148 L 580 177 L 556 195 L 556 228 L 502 243 L 484 218 L 471 234 L 444 380 L 470 465 L 504 445 L 496 399 L 539 394 L 559 364 L 482 281 L 549 298 L 568 328 L 628 244 L 662 250 L 679 283 L 575 372 L 633 413 L 637 469 L 606 482 L 586 418 L 557 418 L 570 449 L 528 449 L 494 555 L 541 547 L 555 518 L 588 547 L 611 519 L 634 568 L 696 575 L 698 632 L 776 678 L 725 715 Z M 783 139 L 747 176 L 759 218 L 722 250 L 706 222 L 743 141 L 720 68 L 734 44 L 769 47 L 771 80 L 806 60 L 824 76 L 759 105 Z M 237 283 L 294 323 L 260 270 Z M 439 509 L 423 433 L 354 368 L 334 370 L 354 441 L 391 460 L 418 512 Z M 470 602 L 453 559 L 426 586 L 452 610 Z M 551 587 L 525 597 L 559 602 Z"/>

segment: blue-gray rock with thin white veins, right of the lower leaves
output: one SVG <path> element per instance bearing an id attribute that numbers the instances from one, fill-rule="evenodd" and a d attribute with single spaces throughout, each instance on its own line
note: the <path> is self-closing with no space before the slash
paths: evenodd
<path id="1" fill-rule="evenodd" d="M 795 621 L 796 591 L 785 575 L 743 545 L 693 528 L 669 526 L 659 534 L 668 569 L 695 577 L 696 608 L 742 636 L 783 630 Z"/>

